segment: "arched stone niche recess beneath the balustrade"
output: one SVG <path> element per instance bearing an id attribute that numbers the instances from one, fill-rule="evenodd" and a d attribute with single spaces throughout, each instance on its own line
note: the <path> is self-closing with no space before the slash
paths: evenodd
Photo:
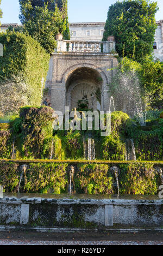
<path id="1" fill-rule="evenodd" d="M 101 110 L 101 95 L 106 78 L 99 68 L 92 68 L 91 64 L 85 67 L 83 64 L 82 67 L 78 65 L 67 74 L 65 80 L 66 105 L 70 109 L 84 104 L 88 109 Z"/>

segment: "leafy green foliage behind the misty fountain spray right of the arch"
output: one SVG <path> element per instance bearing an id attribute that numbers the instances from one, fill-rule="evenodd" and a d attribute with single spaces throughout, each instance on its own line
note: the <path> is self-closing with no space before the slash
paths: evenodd
<path id="1" fill-rule="evenodd" d="M 145 58 L 142 63 L 124 57 L 120 59 L 117 74 L 112 79 L 110 89 L 117 109 L 136 110 L 140 103 L 142 110 L 163 108 L 163 63 Z M 125 108 L 124 108 L 125 107 Z M 137 109 L 140 112 L 140 107 Z M 134 113 L 134 112 L 133 112 Z"/>

